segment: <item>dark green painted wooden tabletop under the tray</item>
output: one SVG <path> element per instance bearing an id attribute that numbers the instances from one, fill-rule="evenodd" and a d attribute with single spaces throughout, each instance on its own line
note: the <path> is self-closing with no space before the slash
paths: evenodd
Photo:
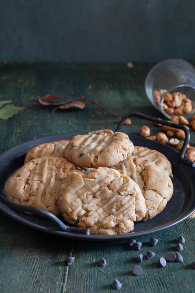
<path id="1" fill-rule="evenodd" d="M 9 120 L 0 120 L 0 151 L 43 135 L 61 132 L 88 131 L 99 128 L 115 130 L 123 114 L 137 110 L 162 117 L 151 106 L 144 92 L 144 79 L 152 64 L 63 64 L 25 63 L 0 65 L 0 99 L 13 100 L 27 109 Z M 22 82 L 18 82 L 22 80 Z M 109 107 L 114 118 L 91 105 L 82 110 L 58 111 L 36 105 L 31 101 L 47 93 L 63 95 L 69 91 L 92 97 Z M 149 122 L 132 119 L 124 126 L 127 133 L 139 134 L 141 125 L 149 125 L 151 133 L 159 129 Z M 191 144 L 195 135 L 191 132 Z M 183 263 L 168 263 L 159 268 L 157 259 L 174 251 L 179 235 L 186 239 Z M 141 253 L 154 251 L 155 257 L 141 263 L 142 275 L 133 276 L 136 264 L 132 259 L 139 252 L 127 241 L 80 242 L 43 234 L 27 228 L 0 213 L 0 292 L 113 292 L 110 284 L 115 278 L 122 283 L 120 292 L 195 292 L 195 220 L 186 220 L 165 231 L 152 234 L 159 239 L 156 247 L 149 244 L 150 235 L 141 237 Z M 67 256 L 75 262 L 65 266 Z M 99 258 L 107 260 L 105 268 L 98 268 Z"/>

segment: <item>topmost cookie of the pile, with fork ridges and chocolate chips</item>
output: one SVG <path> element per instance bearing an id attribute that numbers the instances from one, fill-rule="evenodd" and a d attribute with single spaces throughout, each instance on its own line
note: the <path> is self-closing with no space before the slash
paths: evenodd
<path id="1" fill-rule="evenodd" d="M 130 156 L 133 148 L 127 134 L 104 129 L 73 137 L 64 157 L 80 167 L 109 167 Z"/>

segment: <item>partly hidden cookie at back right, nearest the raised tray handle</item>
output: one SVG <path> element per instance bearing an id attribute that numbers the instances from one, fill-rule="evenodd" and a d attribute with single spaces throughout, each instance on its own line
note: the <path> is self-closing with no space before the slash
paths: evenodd
<path id="1" fill-rule="evenodd" d="M 134 146 L 132 157 L 143 158 L 149 162 L 154 162 L 156 166 L 165 170 L 165 172 L 172 178 L 172 167 L 170 161 L 159 151 L 149 149 L 147 147 Z"/>

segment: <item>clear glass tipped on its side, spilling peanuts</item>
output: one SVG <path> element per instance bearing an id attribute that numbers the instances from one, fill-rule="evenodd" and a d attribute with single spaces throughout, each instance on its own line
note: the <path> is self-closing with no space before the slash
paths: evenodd
<path id="1" fill-rule="evenodd" d="M 190 119 L 195 114 L 195 69 L 185 60 L 167 59 L 156 64 L 146 76 L 145 91 L 154 107 L 169 119 L 173 115 L 182 115 Z M 175 110 L 176 108 L 173 107 L 174 113 L 171 113 L 173 109 L 167 109 L 165 105 L 167 102 L 164 103 L 167 93 L 186 96 L 180 110 Z M 192 102 L 192 109 L 189 107 L 190 112 L 188 110 L 187 113 L 187 107 L 184 109 L 186 98 Z M 170 108 L 172 108 L 171 103 Z"/>

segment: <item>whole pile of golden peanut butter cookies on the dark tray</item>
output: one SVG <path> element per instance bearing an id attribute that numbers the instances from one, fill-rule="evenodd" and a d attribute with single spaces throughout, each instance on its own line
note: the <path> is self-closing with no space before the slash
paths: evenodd
<path id="1" fill-rule="evenodd" d="M 170 177 L 163 154 L 134 147 L 125 133 L 98 130 L 30 149 L 4 194 L 91 234 L 122 234 L 164 209 L 173 193 Z"/>

